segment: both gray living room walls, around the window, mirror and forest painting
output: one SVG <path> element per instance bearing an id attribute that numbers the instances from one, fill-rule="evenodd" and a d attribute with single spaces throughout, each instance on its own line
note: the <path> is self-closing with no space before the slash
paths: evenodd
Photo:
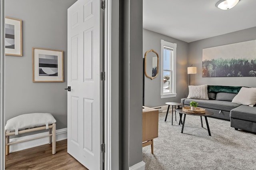
<path id="1" fill-rule="evenodd" d="M 191 75 L 191 85 L 227 85 L 256 87 L 255 77 L 202 77 L 202 49 L 226 45 L 230 43 L 256 40 L 256 27 L 248 28 L 229 34 L 224 34 L 196 42 L 186 43 L 156 32 L 143 29 L 143 53 L 154 49 L 161 56 L 160 40 L 177 43 L 176 54 L 176 97 L 161 99 L 160 97 L 160 75 L 151 80 L 145 77 L 145 106 L 156 107 L 165 105 L 166 102 L 180 102 L 181 98 L 188 95 L 189 75 L 187 67 L 191 64 L 197 67 L 197 73 Z M 144 57 L 144 54 L 143 54 Z M 160 70 L 159 70 L 160 73 Z"/>

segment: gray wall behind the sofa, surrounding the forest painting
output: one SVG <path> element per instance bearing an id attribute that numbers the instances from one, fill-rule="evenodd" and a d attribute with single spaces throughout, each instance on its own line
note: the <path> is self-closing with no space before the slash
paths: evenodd
<path id="1" fill-rule="evenodd" d="M 195 85 L 226 85 L 256 87 L 255 77 L 202 77 L 202 49 L 231 43 L 256 40 L 256 27 L 248 28 L 221 36 L 189 43 L 188 63 L 197 67 L 197 74 L 192 79 Z"/>

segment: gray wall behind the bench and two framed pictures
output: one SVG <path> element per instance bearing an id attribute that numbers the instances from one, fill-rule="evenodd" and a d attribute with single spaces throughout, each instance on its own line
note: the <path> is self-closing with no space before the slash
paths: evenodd
<path id="1" fill-rule="evenodd" d="M 6 120 L 24 113 L 52 113 L 67 127 L 67 9 L 76 0 L 6 0 L 5 14 L 22 20 L 23 56 L 6 56 Z M 32 82 L 32 47 L 64 51 L 64 82 Z"/>

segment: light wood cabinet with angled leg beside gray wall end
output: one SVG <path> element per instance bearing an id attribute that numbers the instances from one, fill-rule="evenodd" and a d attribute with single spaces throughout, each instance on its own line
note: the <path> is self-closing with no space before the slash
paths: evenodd
<path id="1" fill-rule="evenodd" d="M 142 147 L 151 144 L 154 153 L 153 139 L 158 137 L 158 110 L 143 106 L 142 109 Z"/>

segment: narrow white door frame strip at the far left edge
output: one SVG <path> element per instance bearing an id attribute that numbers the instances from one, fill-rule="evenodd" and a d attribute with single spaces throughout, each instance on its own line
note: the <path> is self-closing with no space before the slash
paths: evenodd
<path id="1" fill-rule="evenodd" d="M 4 170 L 5 168 L 5 136 L 4 136 L 4 0 L 0 0 L 0 147 L 2 148 L 0 150 L 0 170 Z"/>

